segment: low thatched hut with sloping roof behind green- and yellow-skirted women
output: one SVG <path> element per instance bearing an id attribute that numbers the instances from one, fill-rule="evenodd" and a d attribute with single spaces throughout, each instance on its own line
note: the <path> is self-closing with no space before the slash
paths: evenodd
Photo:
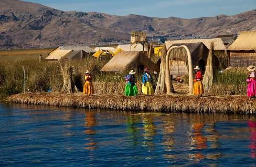
<path id="1" fill-rule="evenodd" d="M 159 66 L 150 61 L 147 55 L 145 55 L 143 52 L 121 52 L 110 59 L 110 61 L 101 69 L 101 71 L 123 73 L 131 69 L 140 71 L 143 70 L 144 67 L 148 67 L 157 73 L 160 70 Z"/>

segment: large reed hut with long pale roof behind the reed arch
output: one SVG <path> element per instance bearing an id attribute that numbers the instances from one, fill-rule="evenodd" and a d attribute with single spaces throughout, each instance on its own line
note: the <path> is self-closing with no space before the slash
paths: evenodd
<path id="1" fill-rule="evenodd" d="M 206 67 L 207 56 L 212 42 L 214 43 L 214 66 L 221 69 L 228 67 L 229 58 L 226 53 L 226 47 L 220 38 L 165 41 L 167 50 L 171 46 L 187 46 L 191 53 L 192 65 L 200 66 L 203 71 Z M 187 52 L 182 47 L 179 47 L 171 51 L 170 54 L 173 54 L 173 59 L 170 62 L 171 75 L 187 75 L 188 65 L 185 61 Z"/>

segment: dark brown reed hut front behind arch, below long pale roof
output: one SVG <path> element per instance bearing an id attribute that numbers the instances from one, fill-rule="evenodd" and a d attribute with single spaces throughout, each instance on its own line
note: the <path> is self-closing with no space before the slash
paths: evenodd
<path id="1" fill-rule="evenodd" d="M 188 47 L 191 53 L 192 66 L 200 66 L 202 71 L 205 69 L 205 62 L 207 61 L 207 56 L 209 50 L 202 43 L 174 43 L 172 46 L 185 45 Z M 188 55 L 184 47 L 176 47 L 170 51 L 170 75 L 182 76 L 188 75 Z"/>

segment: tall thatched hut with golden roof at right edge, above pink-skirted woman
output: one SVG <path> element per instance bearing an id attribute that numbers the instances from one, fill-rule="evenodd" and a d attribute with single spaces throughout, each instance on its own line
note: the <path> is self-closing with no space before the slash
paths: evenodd
<path id="1" fill-rule="evenodd" d="M 256 65 L 256 30 L 242 31 L 228 47 L 231 67 Z"/>

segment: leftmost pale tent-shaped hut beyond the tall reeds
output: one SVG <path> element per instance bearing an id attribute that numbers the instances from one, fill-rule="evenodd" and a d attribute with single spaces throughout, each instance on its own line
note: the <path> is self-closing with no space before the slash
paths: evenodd
<path id="1" fill-rule="evenodd" d="M 62 59 L 79 59 L 85 58 L 89 55 L 95 53 L 89 46 L 59 46 L 56 47 L 49 56 L 46 57 L 47 60 L 60 60 Z"/>

